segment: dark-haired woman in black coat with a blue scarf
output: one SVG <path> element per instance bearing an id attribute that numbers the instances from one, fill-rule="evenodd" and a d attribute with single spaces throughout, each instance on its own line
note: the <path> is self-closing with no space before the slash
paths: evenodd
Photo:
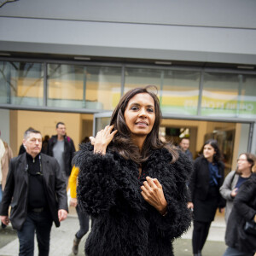
<path id="1" fill-rule="evenodd" d="M 217 141 L 208 140 L 201 151 L 203 154 L 195 160 L 189 182 L 192 200 L 189 208 L 194 210 L 192 246 L 195 256 L 201 256 L 217 208 L 222 212 L 225 207 L 225 201 L 219 193 L 224 182 L 224 163 L 220 160 Z"/>

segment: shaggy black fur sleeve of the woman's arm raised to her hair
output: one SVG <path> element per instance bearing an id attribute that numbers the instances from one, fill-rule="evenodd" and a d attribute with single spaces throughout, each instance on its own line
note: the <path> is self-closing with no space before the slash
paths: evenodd
<path id="1" fill-rule="evenodd" d="M 113 172 L 118 172 L 112 154 L 94 154 L 90 143 L 81 144 L 73 158 L 73 165 L 79 167 L 77 198 L 79 207 L 96 217 L 107 212 L 115 204 L 117 184 Z"/>

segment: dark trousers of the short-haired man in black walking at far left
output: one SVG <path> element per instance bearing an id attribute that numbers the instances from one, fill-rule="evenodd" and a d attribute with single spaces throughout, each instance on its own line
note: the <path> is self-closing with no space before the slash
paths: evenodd
<path id="1" fill-rule="evenodd" d="M 35 232 L 38 240 L 39 256 L 49 255 L 49 234 L 52 226 L 52 218 L 48 211 L 28 212 L 26 221 L 18 231 L 20 241 L 19 256 L 34 255 Z"/>

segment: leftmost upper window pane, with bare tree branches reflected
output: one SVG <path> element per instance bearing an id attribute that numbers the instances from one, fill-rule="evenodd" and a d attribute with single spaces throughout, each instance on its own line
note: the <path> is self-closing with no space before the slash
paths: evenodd
<path id="1" fill-rule="evenodd" d="M 1 62 L 1 102 L 14 105 L 43 106 L 43 64 Z M 3 97 L 2 98 L 2 92 Z"/>

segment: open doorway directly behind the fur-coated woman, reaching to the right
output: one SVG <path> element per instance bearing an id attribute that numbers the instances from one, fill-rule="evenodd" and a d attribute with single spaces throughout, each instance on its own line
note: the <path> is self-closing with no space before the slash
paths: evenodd
<path id="1" fill-rule="evenodd" d="M 111 114 L 106 112 L 94 115 L 94 136 L 97 131 L 109 124 Z M 166 141 L 175 145 L 178 145 L 181 137 L 189 137 L 189 150 L 194 160 L 199 156 L 202 145 L 207 139 L 216 139 L 223 156 L 226 176 L 231 170 L 236 169 L 238 155 L 250 150 L 250 125 L 250 123 L 163 118 L 160 132 Z"/>

